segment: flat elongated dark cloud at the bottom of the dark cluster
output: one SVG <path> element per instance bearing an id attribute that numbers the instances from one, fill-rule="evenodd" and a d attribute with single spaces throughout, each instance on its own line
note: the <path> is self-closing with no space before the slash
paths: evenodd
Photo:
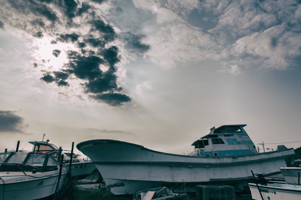
<path id="1" fill-rule="evenodd" d="M 90 97 L 114 107 L 120 107 L 125 102 L 131 101 L 131 98 L 128 95 L 120 94 L 120 93 L 105 93 L 105 94 L 94 95 L 94 96 L 90 95 Z"/>

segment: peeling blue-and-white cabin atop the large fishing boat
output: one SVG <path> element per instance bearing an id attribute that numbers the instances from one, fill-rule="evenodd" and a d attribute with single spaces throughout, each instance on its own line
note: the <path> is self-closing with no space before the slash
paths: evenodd
<path id="1" fill-rule="evenodd" d="M 247 124 L 223 125 L 211 128 L 210 133 L 191 144 L 189 156 L 236 156 L 258 153 L 244 130 Z"/>

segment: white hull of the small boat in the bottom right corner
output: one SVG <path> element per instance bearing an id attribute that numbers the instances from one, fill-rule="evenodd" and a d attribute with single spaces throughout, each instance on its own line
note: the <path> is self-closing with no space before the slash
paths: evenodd
<path id="1" fill-rule="evenodd" d="M 249 183 L 252 198 L 256 200 L 262 200 L 259 190 L 255 183 Z M 301 186 L 287 185 L 287 184 L 258 184 L 261 195 L 264 200 L 300 200 L 301 199 Z"/>

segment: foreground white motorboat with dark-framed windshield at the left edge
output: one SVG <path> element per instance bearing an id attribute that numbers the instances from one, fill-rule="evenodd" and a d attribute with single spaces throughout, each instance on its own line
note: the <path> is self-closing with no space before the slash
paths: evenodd
<path id="1" fill-rule="evenodd" d="M 0 153 L 0 199 L 32 200 L 54 195 L 62 189 L 67 169 L 49 154 Z"/>

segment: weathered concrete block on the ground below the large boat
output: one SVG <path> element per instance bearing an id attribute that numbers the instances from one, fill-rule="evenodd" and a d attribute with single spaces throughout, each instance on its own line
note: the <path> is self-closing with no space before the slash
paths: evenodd
<path id="1" fill-rule="evenodd" d="M 197 185 L 197 200 L 236 200 L 235 189 L 227 185 Z"/>

